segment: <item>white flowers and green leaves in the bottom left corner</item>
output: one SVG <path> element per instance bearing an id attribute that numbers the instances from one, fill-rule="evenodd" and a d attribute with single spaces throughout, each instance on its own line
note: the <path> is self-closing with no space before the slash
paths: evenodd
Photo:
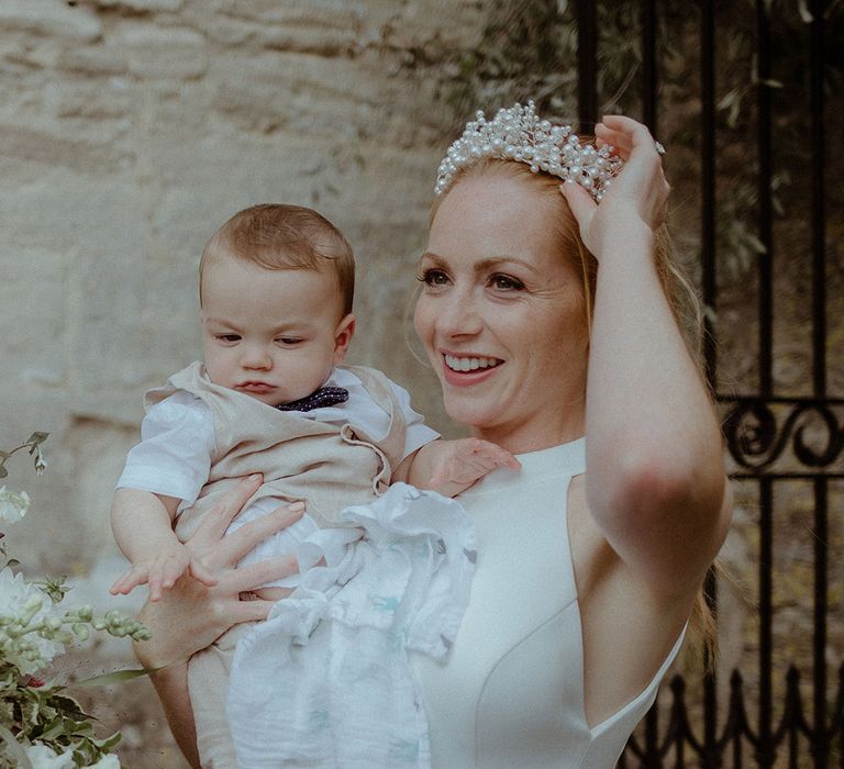
<path id="1" fill-rule="evenodd" d="M 8 476 L 9 457 L 24 448 L 41 475 L 46 438 L 46 433 L 33 433 L 12 450 L 0 452 L 0 477 Z M 29 506 L 25 491 L 0 489 L 0 521 L 20 521 Z M 0 548 L 5 557 L 4 543 Z M 112 749 L 120 733 L 98 739 L 92 717 L 64 686 L 42 676 L 54 657 L 86 640 L 91 631 L 136 640 L 149 633 L 119 612 L 98 616 L 90 606 L 60 609 L 68 590 L 64 578 L 26 580 L 15 572 L 16 566 L 18 561 L 7 560 L 0 569 L 0 768 L 116 769 L 120 762 Z"/>

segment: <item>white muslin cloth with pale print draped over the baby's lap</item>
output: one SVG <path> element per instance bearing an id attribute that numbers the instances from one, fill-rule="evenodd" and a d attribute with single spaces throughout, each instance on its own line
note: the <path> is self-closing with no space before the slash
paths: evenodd
<path id="1" fill-rule="evenodd" d="M 395 483 L 299 545 L 301 582 L 237 644 L 227 714 L 240 769 L 430 766 L 408 651 L 443 659 L 469 600 L 473 522 L 455 500 Z M 348 537 L 318 565 L 322 537 Z"/>

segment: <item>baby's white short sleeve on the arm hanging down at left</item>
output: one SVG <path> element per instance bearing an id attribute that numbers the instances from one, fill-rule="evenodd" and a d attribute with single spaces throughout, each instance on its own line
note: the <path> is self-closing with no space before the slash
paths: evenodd
<path id="1" fill-rule="evenodd" d="M 141 489 L 192 504 L 208 481 L 214 450 L 211 410 L 179 390 L 147 412 L 119 489 Z"/>

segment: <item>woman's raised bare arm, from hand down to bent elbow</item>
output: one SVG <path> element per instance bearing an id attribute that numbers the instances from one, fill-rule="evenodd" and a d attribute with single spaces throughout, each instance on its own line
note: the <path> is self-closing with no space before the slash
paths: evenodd
<path id="1" fill-rule="evenodd" d="M 606 118 L 596 134 L 624 169 L 600 205 L 563 193 L 599 261 L 587 383 L 587 499 L 622 560 L 660 591 L 688 593 L 726 533 L 731 498 L 712 402 L 655 265 L 668 196 L 647 129 Z"/>

